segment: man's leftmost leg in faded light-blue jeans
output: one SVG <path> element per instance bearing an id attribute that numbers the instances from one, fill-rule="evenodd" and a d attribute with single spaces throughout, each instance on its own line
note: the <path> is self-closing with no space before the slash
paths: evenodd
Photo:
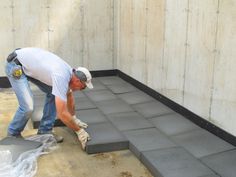
<path id="1" fill-rule="evenodd" d="M 26 76 L 24 74 L 20 78 L 12 76 L 13 71 L 17 67 L 19 65 L 16 65 L 14 62 L 7 63 L 6 65 L 6 74 L 19 102 L 19 107 L 8 127 L 8 135 L 16 137 L 21 135 L 33 112 L 33 96 Z"/>

